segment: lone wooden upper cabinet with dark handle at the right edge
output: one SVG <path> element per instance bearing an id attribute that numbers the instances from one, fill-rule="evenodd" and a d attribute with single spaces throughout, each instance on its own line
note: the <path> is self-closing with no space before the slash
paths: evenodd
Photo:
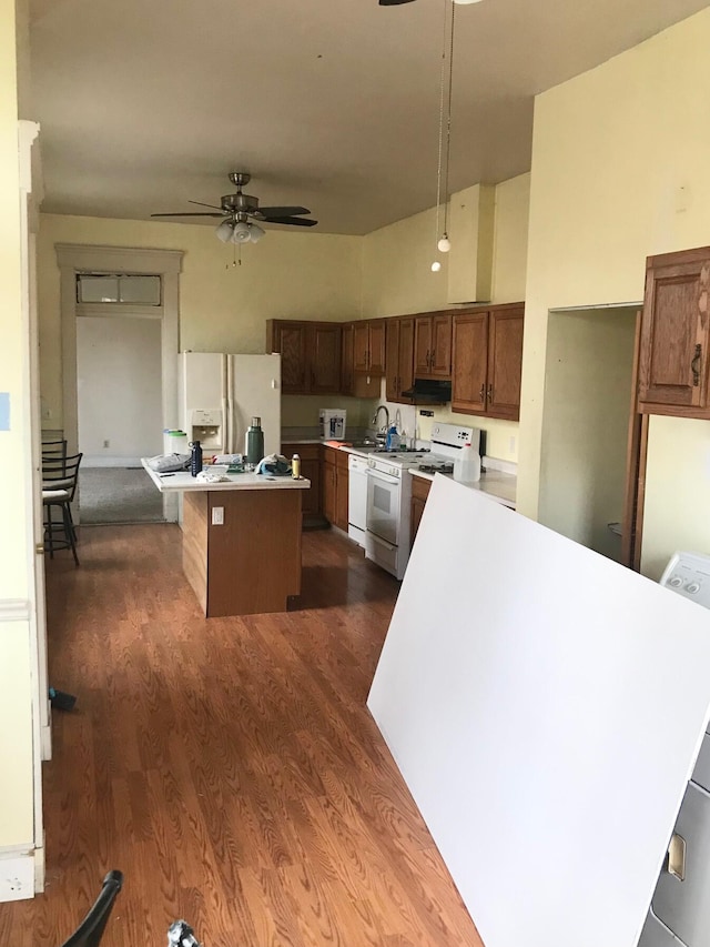
<path id="1" fill-rule="evenodd" d="M 649 256 L 639 411 L 710 417 L 710 246 Z"/>

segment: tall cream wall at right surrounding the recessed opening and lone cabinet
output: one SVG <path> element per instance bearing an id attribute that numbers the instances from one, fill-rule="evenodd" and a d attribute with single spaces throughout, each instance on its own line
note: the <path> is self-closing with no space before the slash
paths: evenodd
<path id="1" fill-rule="evenodd" d="M 548 311 L 641 300 L 648 254 L 710 243 L 709 44 L 706 9 L 536 100 L 518 477 L 528 516 L 540 492 Z M 710 552 L 704 427 L 686 436 L 686 424 L 651 424 L 642 571 L 653 577 L 681 535 Z M 693 488 L 670 488 L 658 469 L 669 455 Z"/>

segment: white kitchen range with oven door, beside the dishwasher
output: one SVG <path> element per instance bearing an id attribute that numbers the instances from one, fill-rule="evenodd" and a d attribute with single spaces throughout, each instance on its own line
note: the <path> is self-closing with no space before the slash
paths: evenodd
<path id="1" fill-rule="evenodd" d="M 467 443 L 479 451 L 478 429 L 435 424 L 429 450 L 373 452 L 367 456 L 365 555 L 396 578 L 404 577 L 409 558 L 409 470 L 453 473 Z"/>

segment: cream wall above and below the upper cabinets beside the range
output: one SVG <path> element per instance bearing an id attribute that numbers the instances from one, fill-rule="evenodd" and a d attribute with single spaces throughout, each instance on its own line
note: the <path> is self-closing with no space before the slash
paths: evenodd
<path id="1" fill-rule="evenodd" d="M 525 299 L 529 194 L 529 174 L 520 174 L 496 187 L 491 300 L 495 303 Z M 429 210 L 364 238 L 364 315 L 402 315 L 449 309 L 446 303 L 446 254 L 435 252 L 435 223 L 436 213 Z M 434 259 L 442 261 L 438 273 L 432 272 Z M 387 406 L 390 414 L 398 407 L 396 404 Z M 422 417 L 418 412 L 413 419 L 406 406 L 404 410 L 399 406 L 399 410 L 407 433 L 416 427 L 418 435 L 428 440 L 434 421 L 481 427 L 486 431 L 489 456 L 513 462 L 518 460 L 516 421 L 457 414 L 449 405 L 435 407 L 433 419 Z"/>

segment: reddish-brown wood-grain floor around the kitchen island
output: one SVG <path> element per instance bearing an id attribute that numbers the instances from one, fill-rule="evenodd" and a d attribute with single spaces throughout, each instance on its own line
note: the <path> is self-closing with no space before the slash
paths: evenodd
<path id="1" fill-rule="evenodd" d="M 204 619 L 176 526 L 85 527 L 48 562 L 47 891 L 2 947 L 57 947 L 110 868 L 105 947 L 480 945 L 365 702 L 398 583 L 304 534 L 298 611 Z M 277 542 L 278 537 L 274 537 Z M 239 576 L 234 576 L 239 582 Z"/>

